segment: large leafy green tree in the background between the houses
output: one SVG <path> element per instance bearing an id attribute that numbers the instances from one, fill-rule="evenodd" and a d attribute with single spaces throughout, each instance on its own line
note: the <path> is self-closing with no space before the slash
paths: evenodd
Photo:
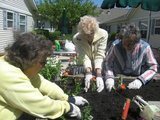
<path id="1" fill-rule="evenodd" d="M 60 26 L 58 29 L 66 34 L 71 33 L 72 27 L 77 25 L 80 17 L 98 15 L 96 8 L 92 0 L 44 0 L 34 14 L 39 20 L 49 21 L 56 29 Z"/>

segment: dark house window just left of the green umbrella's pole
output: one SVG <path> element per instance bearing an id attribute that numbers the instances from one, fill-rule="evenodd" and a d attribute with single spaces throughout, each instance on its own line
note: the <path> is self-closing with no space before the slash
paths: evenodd
<path id="1" fill-rule="evenodd" d="M 141 32 L 141 38 L 147 38 L 148 21 L 140 21 L 139 29 Z"/>

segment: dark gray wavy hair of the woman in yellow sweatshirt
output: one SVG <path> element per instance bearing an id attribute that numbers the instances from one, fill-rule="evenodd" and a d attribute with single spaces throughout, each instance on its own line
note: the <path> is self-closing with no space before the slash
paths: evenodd
<path id="1" fill-rule="evenodd" d="M 15 42 L 6 47 L 5 59 L 22 71 L 52 54 L 52 42 L 33 33 L 15 36 Z"/>

